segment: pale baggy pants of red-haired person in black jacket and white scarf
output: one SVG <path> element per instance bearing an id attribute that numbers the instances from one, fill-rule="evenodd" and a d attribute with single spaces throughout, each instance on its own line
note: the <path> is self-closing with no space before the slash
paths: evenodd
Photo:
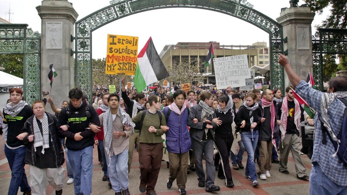
<path id="1" fill-rule="evenodd" d="M 29 186 L 33 195 L 46 194 L 46 180 L 55 190 L 63 188 L 65 179 L 64 168 L 40 169 L 30 165 L 29 170 Z"/>

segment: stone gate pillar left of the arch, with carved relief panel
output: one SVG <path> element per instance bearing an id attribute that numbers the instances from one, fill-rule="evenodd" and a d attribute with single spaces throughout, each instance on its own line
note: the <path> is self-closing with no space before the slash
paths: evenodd
<path id="1" fill-rule="evenodd" d="M 68 92 L 74 87 L 74 58 L 70 55 L 74 43 L 70 36 L 74 34 L 78 14 L 67 0 L 43 0 L 36 10 L 41 17 L 41 90 L 50 91 L 48 73 L 53 64 L 58 76 L 54 78 L 51 97 L 60 108 L 64 100 L 69 100 Z M 46 111 L 51 111 L 49 103 Z"/>

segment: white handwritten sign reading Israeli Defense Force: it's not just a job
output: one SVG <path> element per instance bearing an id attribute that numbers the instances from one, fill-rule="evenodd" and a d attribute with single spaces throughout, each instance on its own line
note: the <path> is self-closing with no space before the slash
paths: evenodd
<path id="1" fill-rule="evenodd" d="M 218 90 L 245 86 L 245 79 L 251 78 L 247 54 L 213 58 L 213 67 Z"/>

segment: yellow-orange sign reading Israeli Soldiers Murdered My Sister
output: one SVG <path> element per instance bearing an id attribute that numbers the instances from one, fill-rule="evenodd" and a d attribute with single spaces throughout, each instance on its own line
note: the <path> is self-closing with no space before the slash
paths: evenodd
<path id="1" fill-rule="evenodd" d="M 105 73 L 135 75 L 138 37 L 107 35 Z"/>

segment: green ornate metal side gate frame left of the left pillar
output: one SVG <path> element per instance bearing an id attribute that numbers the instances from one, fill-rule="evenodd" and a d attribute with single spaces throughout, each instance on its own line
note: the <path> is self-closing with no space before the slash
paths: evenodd
<path id="1" fill-rule="evenodd" d="M 41 34 L 27 24 L 0 24 L 0 54 L 23 54 L 25 101 L 41 100 Z"/>

